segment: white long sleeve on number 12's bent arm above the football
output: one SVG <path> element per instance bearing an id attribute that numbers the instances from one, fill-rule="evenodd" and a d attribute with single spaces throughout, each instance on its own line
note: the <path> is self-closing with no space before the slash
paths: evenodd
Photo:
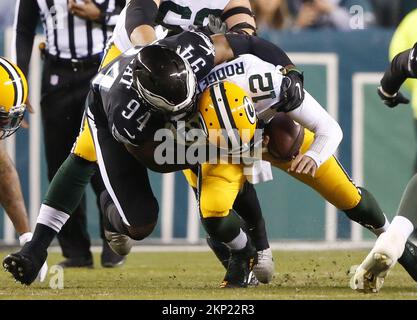
<path id="1" fill-rule="evenodd" d="M 307 91 L 301 106 L 287 114 L 314 133 L 314 141 L 305 155 L 320 167 L 336 152 L 342 141 L 343 132 L 339 124 Z"/>

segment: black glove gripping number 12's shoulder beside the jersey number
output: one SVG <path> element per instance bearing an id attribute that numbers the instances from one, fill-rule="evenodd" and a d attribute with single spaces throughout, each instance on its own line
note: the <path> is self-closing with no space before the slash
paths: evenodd
<path id="1" fill-rule="evenodd" d="M 279 102 L 272 108 L 278 112 L 289 112 L 297 109 L 304 100 L 304 76 L 297 69 L 281 69 L 285 75 L 281 83 Z"/>

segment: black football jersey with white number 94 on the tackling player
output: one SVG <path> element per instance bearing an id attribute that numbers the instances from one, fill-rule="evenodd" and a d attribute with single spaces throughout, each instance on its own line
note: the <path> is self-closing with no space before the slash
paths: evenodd
<path id="1" fill-rule="evenodd" d="M 202 33 L 187 31 L 155 44 L 175 50 L 186 59 L 197 81 L 214 67 L 213 43 Z M 135 146 L 153 138 L 166 122 L 139 98 L 133 86 L 133 70 L 140 49 L 126 51 L 100 70 L 91 82 L 94 103 L 89 107 L 97 126 L 106 126 L 116 140 Z"/>

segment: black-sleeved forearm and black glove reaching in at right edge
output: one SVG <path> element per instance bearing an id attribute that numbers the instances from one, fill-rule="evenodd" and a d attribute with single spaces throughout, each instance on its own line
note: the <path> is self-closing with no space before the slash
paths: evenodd
<path id="1" fill-rule="evenodd" d="M 394 95 L 407 78 L 417 77 L 417 43 L 414 48 L 397 54 L 381 79 L 382 89 Z"/>

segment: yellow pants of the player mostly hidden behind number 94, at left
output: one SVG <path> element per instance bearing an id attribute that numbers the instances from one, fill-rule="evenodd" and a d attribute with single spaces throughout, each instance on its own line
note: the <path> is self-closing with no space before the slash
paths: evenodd
<path id="1" fill-rule="evenodd" d="M 111 45 L 104 54 L 103 60 L 101 61 L 100 69 L 107 66 L 110 62 L 116 59 L 122 52 L 117 49 L 113 44 Z M 87 119 L 82 121 L 80 133 L 74 146 L 71 150 L 72 153 L 85 160 L 96 162 L 96 150 L 94 148 L 93 137 L 91 136 L 90 128 L 88 127 Z"/>

